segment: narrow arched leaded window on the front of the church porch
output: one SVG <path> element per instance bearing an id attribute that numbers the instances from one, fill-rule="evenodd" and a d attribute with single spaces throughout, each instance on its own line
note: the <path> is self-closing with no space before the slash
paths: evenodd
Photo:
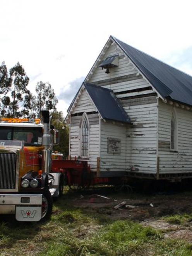
<path id="1" fill-rule="evenodd" d="M 89 148 L 89 121 L 87 115 L 82 116 L 81 122 L 81 156 L 88 156 Z"/>

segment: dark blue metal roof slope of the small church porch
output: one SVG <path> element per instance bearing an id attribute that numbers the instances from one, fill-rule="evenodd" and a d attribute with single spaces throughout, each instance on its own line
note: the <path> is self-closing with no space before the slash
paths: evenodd
<path id="1" fill-rule="evenodd" d="M 83 83 L 103 119 L 130 123 L 130 118 L 112 90 L 94 84 Z"/>

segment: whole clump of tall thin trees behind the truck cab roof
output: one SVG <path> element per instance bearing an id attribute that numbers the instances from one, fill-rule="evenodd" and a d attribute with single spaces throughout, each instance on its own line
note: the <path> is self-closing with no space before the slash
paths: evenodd
<path id="1" fill-rule="evenodd" d="M 29 77 L 18 62 L 9 72 L 5 63 L 0 65 L 0 115 L 8 118 L 40 117 L 41 110 L 56 110 L 58 100 L 48 82 L 38 82 L 36 96 L 27 86 Z"/>

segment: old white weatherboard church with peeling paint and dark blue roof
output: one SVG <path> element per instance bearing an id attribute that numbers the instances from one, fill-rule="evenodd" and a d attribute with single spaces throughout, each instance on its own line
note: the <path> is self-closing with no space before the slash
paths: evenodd
<path id="1" fill-rule="evenodd" d="M 66 122 L 70 158 L 98 177 L 192 177 L 192 77 L 113 36 Z"/>

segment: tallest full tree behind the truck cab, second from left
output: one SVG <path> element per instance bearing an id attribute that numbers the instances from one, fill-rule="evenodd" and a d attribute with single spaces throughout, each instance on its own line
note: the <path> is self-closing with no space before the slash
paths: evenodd
<path id="1" fill-rule="evenodd" d="M 10 95 L 2 98 L 3 115 L 11 118 L 21 117 L 26 95 L 29 94 L 29 90 L 27 90 L 29 77 L 26 76 L 25 70 L 19 62 L 9 70 L 8 81 L 11 92 Z"/>

